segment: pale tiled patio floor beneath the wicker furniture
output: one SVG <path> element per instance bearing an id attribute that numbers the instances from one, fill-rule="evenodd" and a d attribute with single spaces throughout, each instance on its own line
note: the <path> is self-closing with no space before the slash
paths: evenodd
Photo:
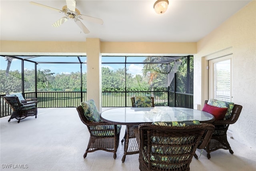
<path id="1" fill-rule="evenodd" d="M 27 117 L 17 123 L 8 117 L 0 119 L 1 171 L 138 171 L 138 154 L 127 155 L 122 163 L 124 145 L 117 157 L 106 151 L 83 155 L 90 136 L 75 108 L 39 108 L 38 117 Z M 124 136 L 122 127 L 121 137 Z M 256 151 L 229 139 L 234 154 L 217 150 L 207 159 L 203 151 L 192 159 L 191 171 L 256 171 Z M 200 151 L 196 151 L 198 156 Z M 6 167 L 24 167 L 6 168 Z"/>

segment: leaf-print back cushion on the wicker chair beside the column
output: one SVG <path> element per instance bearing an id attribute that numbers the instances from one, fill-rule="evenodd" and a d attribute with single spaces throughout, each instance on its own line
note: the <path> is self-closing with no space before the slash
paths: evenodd
<path id="1" fill-rule="evenodd" d="M 100 112 L 98 111 L 93 99 L 90 99 L 88 101 L 82 101 L 81 106 L 84 109 L 84 116 L 89 121 L 94 121 L 94 122 L 101 121 Z"/>

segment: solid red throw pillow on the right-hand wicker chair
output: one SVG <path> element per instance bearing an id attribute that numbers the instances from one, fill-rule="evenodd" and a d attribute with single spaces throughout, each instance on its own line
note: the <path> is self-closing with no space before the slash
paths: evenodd
<path id="1" fill-rule="evenodd" d="M 206 111 L 214 115 L 215 120 L 223 120 L 228 108 L 216 107 L 208 104 L 204 104 L 202 111 Z"/>

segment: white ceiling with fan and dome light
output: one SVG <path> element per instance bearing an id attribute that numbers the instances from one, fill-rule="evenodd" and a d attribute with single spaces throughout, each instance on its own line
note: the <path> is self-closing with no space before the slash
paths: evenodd
<path id="1" fill-rule="evenodd" d="M 37 2 L 62 10 L 65 0 L 0 0 L 0 39 L 74 41 L 100 38 L 104 42 L 197 42 L 238 12 L 247 0 L 169 0 L 166 13 L 154 12 L 155 0 L 76 0 L 81 14 L 101 18 L 103 25 L 82 20 L 81 32 L 72 20 L 52 24 L 64 14 L 35 6 Z"/>

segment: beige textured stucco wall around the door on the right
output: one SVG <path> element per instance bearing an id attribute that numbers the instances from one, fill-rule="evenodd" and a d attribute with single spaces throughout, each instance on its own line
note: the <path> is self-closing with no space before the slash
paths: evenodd
<path id="1" fill-rule="evenodd" d="M 233 53 L 232 101 L 243 106 L 242 113 L 229 129 L 234 139 L 256 148 L 256 1 L 250 2 L 216 30 L 197 43 L 194 56 L 194 103 L 201 109 L 207 97 L 206 63 L 204 57 Z"/>

